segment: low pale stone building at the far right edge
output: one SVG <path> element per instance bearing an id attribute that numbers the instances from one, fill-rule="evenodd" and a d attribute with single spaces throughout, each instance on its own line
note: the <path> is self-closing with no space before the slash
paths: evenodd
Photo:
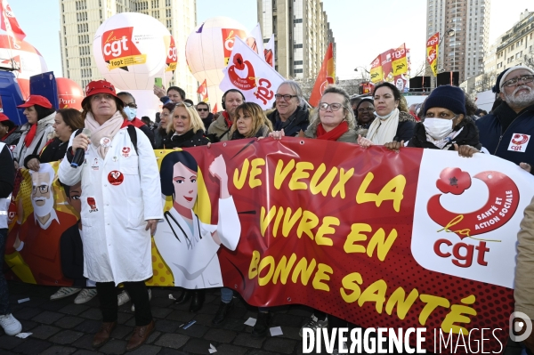
<path id="1" fill-rule="evenodd" d="M 498 73 L 516 65 L 534 66 L 534 12 L 522 12 L 519 21 L 495 45 Z"/>

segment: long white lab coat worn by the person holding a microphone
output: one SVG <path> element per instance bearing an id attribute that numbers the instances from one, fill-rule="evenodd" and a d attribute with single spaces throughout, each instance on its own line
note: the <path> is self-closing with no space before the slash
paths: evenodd
<path id="1" fill-rule="evenodd" d="M 146 220 L 163 218 L 161 185 L 150 141 L 141 130 L 135 130 L 139 157 L 122 128 L 113 137 L 105 159 L 90 144 L 81 167 L 71 167 L 67 158 L 60 164 L 61 182 L 72 186 L 82 181 L 84 276 L 96 282 L 119 284 L 152 276 L 150 230 L 145 227 Z M 128 157 L 121 154 L 124 147 L 130 148 Z M 109 183 L 112 171 L 123 173 L 119 185 Z M 93 200 L 87 198 L 94 199 L 96 210 L 89 203 Z"/>

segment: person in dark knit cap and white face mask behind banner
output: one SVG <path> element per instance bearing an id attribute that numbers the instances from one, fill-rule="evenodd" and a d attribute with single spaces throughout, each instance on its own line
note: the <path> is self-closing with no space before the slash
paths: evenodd
<path id="1" fill-rule="evenodd" d="M 456 86 L 443 85 L 425 101 L 425 119 L 418 122 L 408 147 L 457 150 L 462 157 L 473 157 L 482 145 L 474 121 L 466 115 L 465 93 Z M 403 141 L 384 144 L 398 150 Z"/>

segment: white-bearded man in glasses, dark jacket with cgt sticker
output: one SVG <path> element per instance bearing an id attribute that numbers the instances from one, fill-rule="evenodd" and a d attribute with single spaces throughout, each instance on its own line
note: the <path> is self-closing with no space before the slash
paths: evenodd
<path id="1" fill-rule="evenodd" d="M 534 173 L 534 70 L 517 66 L 503 71 L 493 92 L 503 100 L 476 120 L 482 146 Z"/>

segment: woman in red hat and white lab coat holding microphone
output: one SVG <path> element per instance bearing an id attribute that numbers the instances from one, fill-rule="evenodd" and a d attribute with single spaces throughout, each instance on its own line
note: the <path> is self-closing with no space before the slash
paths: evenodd
<path id="1" fill-rule="evenodd" d="M 117 325 L 116 286 L 124 283 L 135 304 L 136 327 L 126 346 L 133 350 L 154 329 L 144 280 L 152 276 L 150 233 L 163 218 L 158 165 L 146 135 L 127 128 L 113 85 L 93 81 L 85 93 L 82 116 L 91 134 L 72 134 L 59 177 L 69 186 L 82 182 L 84 276 L 96 281 L 103 316 L 93 346 L 106 343 Z M 76 168 L 71 162 L 80 148 L 85 159 Z"/>

